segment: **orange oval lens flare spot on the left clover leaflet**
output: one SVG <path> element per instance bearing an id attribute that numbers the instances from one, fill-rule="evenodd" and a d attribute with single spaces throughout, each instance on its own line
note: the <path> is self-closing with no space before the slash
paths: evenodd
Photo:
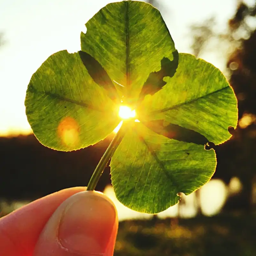
<path id="1" fill-rule="evenodd" d="M 58 136 L 67 147 L 74 147 L 79 143 L 79 126 L 76 120 L 70 116 L 60 121 Z"/>

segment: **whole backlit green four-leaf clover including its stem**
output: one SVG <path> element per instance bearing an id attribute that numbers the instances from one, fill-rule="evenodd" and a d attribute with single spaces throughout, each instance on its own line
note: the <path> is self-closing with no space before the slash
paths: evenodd
<path id="1" fill-rule="evenodd" d="M 188 195 L 212 177 L 209 145 L 228 140 L 228 126 L 236 127 L 234 92 L 212 64 L 177 52 L 150 4 L 108 4 L 85 25 L 81 51 L 54 53 L 32 76 L 28 121 L 42 144 L 63 151 L 93 145 L 122 124 L 88 189 L 111 158 L 119 201 L 161 212 L 178 203 L 177 193 Z M 120 111 L 128 107 L 126 120 Z"/>

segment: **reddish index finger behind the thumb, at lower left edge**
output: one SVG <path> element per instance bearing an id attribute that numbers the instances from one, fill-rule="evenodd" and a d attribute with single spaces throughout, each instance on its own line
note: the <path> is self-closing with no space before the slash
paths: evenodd
<path id="1" fill-rule="evenodd" d="M 0 252 L 8 256 L 30 256 L 53 212 L 68 197 L 86 187 L 67 188 L 27 204 L 0 219 Z"/>

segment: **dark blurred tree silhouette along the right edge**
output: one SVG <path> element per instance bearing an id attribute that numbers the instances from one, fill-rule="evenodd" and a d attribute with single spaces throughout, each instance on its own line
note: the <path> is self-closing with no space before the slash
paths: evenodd
<path id="1" fill-rule="evenodd" d="M 247 18 L 256 19 L 255 16 L 256 2 L 254 7 L 240 3 L 228 21 L 225 34 L 213 31 L 213 19 L 191 26 L 192 49 L 196 56 L 204 52 L 212 37 L 218 39 L 218 47 L 225 43 L 232 49 L 227 56 L 227 70 L 238 100 L 239 125 L 236 130 L 230 130 L 231 140 L 215 147 L 218 164 L 213 176 L 226 184 L 236 176 L 243 184 L 241 193 L 228 200 L 225 209 L 229 210 L 252 209 L 252 186 L 256 177 L 256 30 L 248 25 Z"/>

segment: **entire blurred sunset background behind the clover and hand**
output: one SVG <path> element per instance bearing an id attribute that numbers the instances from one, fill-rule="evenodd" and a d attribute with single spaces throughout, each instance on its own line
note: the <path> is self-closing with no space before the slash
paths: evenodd
<path id="1" fill-rule="evenodd" d="M 256 1 L 151 0 L 179 52 L 211 62 L 238 99 L 232 138 L 215 146 L 210 182 L 157 215 L 117 202 L 109 168 L 97 189 L 116 204 L 115 255 L 256 255 Z M 63 188 L 85 186 L 111 136 L 73 152 L 42 146 L 24 99 L 32 74 L 52 53 L 80 50 L 80 32 L 105 0 L 0 0 L 0 214 Z"/>

